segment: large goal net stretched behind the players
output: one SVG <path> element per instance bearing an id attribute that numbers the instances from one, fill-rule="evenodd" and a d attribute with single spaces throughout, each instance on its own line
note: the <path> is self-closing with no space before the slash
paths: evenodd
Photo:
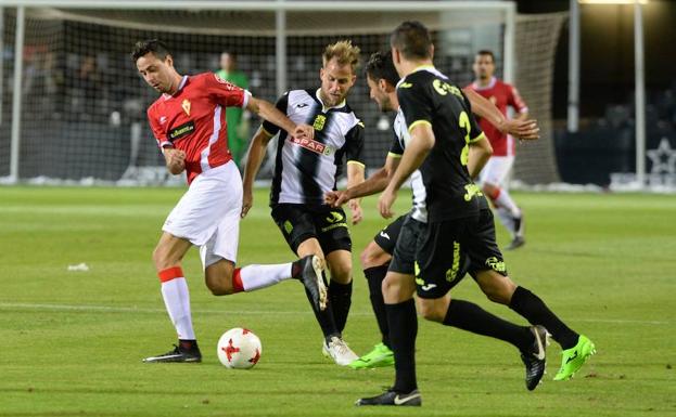
<path id="1" fill-rule="evenodd" d="M 366 62 L 370 53 L 388 48 L 388 34 L 396 25 L 419 19 L 433 31 L 435 65 L 459 86 L 471 82 L 473 56 L 480 49 L 495 52 L 498 77 L 514 64 L 512 78 L 544 128 L 540 143 L 518 149 L 521 157 L 515 178 L 528 183 L 558 180 L 550 133 L 550 86 L 563 15 L 520 16 L 510 47 L 506 43 L 506 36 L 511 36 L 506 3 L 496 9 L 481 2 L 479 8 L 464 3 L 465 9 L 439 10 L 416 10 L 414 2 L 408 2 L 413 9 L 398 11 L 390 10 L 386 2 L 382 10 L 371 11 L 359 10 L 357 2 L 353 10 L 349 5 L 340 11 L 293 9 L 284 12 L 281 28 L 276 2 L 270 3 L 269 9 L 255 11 L 27 8 L 15 161 L 18 179 L 122 184 L 181 181 L 166 173 L 145 121 L 145 109 L 157 94 L 143 82 L 129 57 L 138 40 L 165 41 L 180 74 L 218 70 L 220 53 L 235 53 L 238 68 L 248 78 L 248 90 L 275 102 L 283 89 L 319 87 L 320 55 L 328 43 L 350 39 L 360 47 Z M 0 30 L 0 177 L 11 173 L 16 15 L 15 8 L 5 8 Z M 280 34 L 285 47 L 281 70 Z M 514 45 L 515 56 L 506 62 Z M 378 168 L 390 145 L 392 117 L 370 102 L 362 68 L 348 102 L 367 127 L 367 166 Z M 252 119 L 245 136 L 251 138 L 258 123 Z M 264 166 L 259 178 L 271 175 L 271 164 Z"/>

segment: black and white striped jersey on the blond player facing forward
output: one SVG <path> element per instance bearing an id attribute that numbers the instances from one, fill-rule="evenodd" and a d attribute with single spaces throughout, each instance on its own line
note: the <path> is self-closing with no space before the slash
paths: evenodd
<path id="1" fill-rule="evenodd" d="M 315 139 L 298 140 L 263 123 L 267 133 L 279 132 L 270 205 L 322 205 L 324 193 L 336 190 L 344 159 L 363 165 L 363 123 L 345 102 L 324 107 L 319 90 L 291 90 L 276 105 L 295 123 L 313 126 Z"/>

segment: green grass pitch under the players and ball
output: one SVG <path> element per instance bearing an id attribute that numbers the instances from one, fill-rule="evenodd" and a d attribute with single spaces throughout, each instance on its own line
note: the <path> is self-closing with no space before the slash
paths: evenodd
<path id="1" fill-rule="evenodd" d="M 527 245 L 506 253 L 510 275 L 538 294 L 598 354 L 571 381 L 548 375 L 527 392 L 513 348 L 433 323 L 418 338 L 421 409 L 360 409 L 392 383 L 391 369 L 326 362 L 302 287 L 282 283 L 217 298 L 189 253 L 202 364 L 142 364 L 168 350 L 151 252 L 178 188 L 0 187 L 0 416 L 666 416 L 676 415 L 676 198 L 662 195 L 516 194 Z M 242 223 L 241 263 L 290 260 L 269 218 L 267 191 Z M 401 193 L 398 212 L 409 198 Z M 378 342 L 358 252 L 385 224 L 375 199 L 353 227 L 355 294 L 346 340 Z M 498 239 L 507 236 L 498 226 Z M 89 272 L 68 272 L 85 262 Z M 457 298 L 524 323 L 471 279 Z M 245 326 L 263 340 L 248 372 L 229 370 L 215 343 Z"/>

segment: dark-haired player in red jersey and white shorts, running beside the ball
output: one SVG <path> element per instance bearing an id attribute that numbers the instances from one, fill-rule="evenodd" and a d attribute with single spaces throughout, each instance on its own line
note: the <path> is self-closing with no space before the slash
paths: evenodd
<path id="1" fill-rule="evenodd" d="M 181 76 L 167 47 L 157 40 L 138 42 L 131 57 L 145 82 L 162 95 L 148 119 L 167 169 L 186 171 L 189 188 L 169 213 L 153 252 L 162 297 L 178 334 L 171 351 L 144 362 L 201 362 L 192 327 L 188 285 L 181 260 L 192 245 L 200 247 L 204 279 L 215 296 L 251 291 L 296 278 L 322 308 L 327 288 L 321 261 L 308 256 L 295 262 L 234 268 L 242 212 L 242 178 L 230 151 L 226 107 L 246 108 L 291 135 L 311 140 L 314 130 L 296 126 L 269 102 L 212 73 Z"/>

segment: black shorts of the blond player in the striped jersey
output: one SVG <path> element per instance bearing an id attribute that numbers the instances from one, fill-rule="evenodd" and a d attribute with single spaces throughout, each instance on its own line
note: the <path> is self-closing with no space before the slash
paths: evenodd
<path id="1" fill-rule="evenodd" d="M 303 204 L 278 204 L 272 206 L 272 219 L 282 231 L 291 250 L 315 237 L 321 250 L 328 255 L 334 250 L 352 251 L 345 211 L 330 206 Z"/>

